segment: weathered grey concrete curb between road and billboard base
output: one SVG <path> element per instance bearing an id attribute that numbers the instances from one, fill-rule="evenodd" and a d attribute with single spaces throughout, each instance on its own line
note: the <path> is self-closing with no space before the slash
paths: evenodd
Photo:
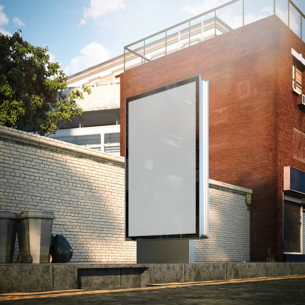
<path id="1" fill-rule="evenodd" d="M 0 264 L 0 293 L 305 275 L 305 263 Z"/>

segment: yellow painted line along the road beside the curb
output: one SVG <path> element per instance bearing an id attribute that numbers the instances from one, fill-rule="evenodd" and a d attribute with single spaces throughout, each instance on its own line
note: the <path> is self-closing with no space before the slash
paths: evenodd
<path id="1" fill-rule="evenodd" d="M 287 279 L 305 279 L 305 276 L 237 279 L 237 280 L 226 280 L 226 281 L 189 282 L 189 283 L 168 283 L 168 285 L 167 284 L 159 284 L 159 285 L 163 285 L 163 286 L 111 289 L 111 290 L 92 290 L 92 291 L 59 290 L 59 291 L 34 292 L 34 293 L 22 293 L 22 294 L 20 294 L 20 293 L 11 293 L 11 294 L 6 293 L 6 294 L 0 294 L 0 301 L 32 299 L 32 298 L 46 298 L 46 297 L 57 297 L 57 296 L 77 296 L 77 295 L 102 294 L 102 293 L 139 291 L 139 290 L 156 290 L 156 289 L 180 288 L 180 287 L 189 287 L 189 286 L 210 286 L 210 285 L 223 285 L 223 284 L 232 284 L 232 283 L 247 283 L 247 282 L 261 282 L 261 281 L 275 281 L 275 280 L 287 280 Z M 64 293 L 61 293 L 61 292 L 64 292 Z"/>

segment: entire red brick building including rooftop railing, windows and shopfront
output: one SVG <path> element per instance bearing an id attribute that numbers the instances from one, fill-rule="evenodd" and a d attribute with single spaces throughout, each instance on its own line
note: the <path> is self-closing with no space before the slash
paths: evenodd
<path id="1" fill-rule="evenodd" d="M 207 34 L 213 16 L 232 30 Z M 291 1 L 235 0 L 125 47 L 121 156 L 126 98 L 199 74 L 209 79 L 209 177 L 253 190 L 252 261 L 268 251 L 279 261 L 304 259 L 304 24 Z M 163 46 L 157 60 L 146 56 L 151 41 Z"/>

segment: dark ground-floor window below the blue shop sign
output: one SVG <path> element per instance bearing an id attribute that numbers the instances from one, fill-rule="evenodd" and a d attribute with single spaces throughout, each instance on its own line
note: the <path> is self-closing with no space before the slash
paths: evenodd
<path id="1" fill-rule="evenodd" d="M 301 204 L 284 200 L 284 252 L 301 252 Z"/>

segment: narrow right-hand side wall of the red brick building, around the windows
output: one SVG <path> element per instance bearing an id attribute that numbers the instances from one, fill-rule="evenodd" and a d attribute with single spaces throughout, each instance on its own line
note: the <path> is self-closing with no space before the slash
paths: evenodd
<path id="1" fill-rule="evenodd" d="M 277 245 L 278 251 L 283 251 L 283 167 L 292 166 L 305 171 L 305 115 L 296 104 L 296 95 L 292 93 L 292 62 L 291 48 L 305 57 L 305 43 L 301 41 L 283 22 L 279 25 L 278 64 L 277 64 L 277 90 L 276 128 L 277 134 Z M 303 94 L 305 78 L 303 75 Z"/>

